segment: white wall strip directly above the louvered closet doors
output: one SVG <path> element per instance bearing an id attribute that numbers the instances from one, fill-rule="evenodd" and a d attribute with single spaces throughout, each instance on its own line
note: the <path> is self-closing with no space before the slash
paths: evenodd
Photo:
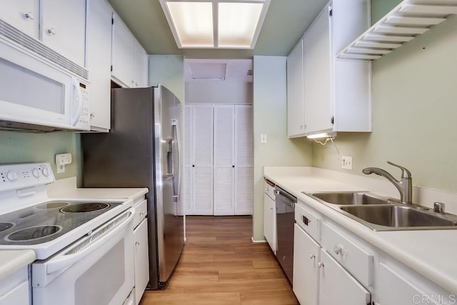
<path id="1" fill-rule="evenodd" d="M 188 81 L 186 103 L 252 104 L 252 83 L 246 81 Z"/>

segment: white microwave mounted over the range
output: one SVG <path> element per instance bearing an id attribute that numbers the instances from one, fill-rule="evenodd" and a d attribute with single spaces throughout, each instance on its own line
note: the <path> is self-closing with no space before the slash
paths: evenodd
<path id="1" fill-rule="evenodd" d="M 0 129 L 90 130 L 89 72 L 2 20 Z"/>

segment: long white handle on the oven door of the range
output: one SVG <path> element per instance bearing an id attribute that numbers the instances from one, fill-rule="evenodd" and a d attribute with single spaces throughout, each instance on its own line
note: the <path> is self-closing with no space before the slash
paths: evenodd
<path id="1" fill-rule="evenodd" d="M 128 226 L 131 223 L 131 221 L 133 221 L 134 214 L 135 214 L 134 211 L 135 210 L 133 208 L 131 208 L 128 212 L 129 216 L 127 216 L 127 218 L 124 221 L 122 221 L 120 224 L 116 224 L 114 229 L 107 231 L 106 233 L 104 233 L 103 236 L 99 237 L 99 239 L 96 239 L 96 241 L 94 241 L 91 244 L 84 247 L 84 249 L 76 251 L 75 254 L 68 254 L 68 255 L 60 254 L 59 256 L 55 257 L 54 259 L 51 259 L 50 261 L 48 261 L 46 263 L 46 265 L 47 265 L 46 274 L 52 274 L 61 269 L 68 268 L 69 266 L 75 264 L 77 261 L 81 260 L 84 256 L 91 254 L 91 252 L 96 250 L 100 244 L 104 244 L 105 241 L 111 239 L 111 237 L 115 236 L 116 234 L 119 233 L 119 231 L 123 230 L 126 226 Z M 116 218 L 118 218 L 118 217 L 116 217 Z M 116 220 L 113 220 L 113 221 L 116 221 Z M 109 226 L 113 221 L 109 221 L 109 224 L 106 224 L 105 226 Z M 103 227 L 101 227 L 100 229 L 103 230 Z M 99 231 L 99 230 L 97 230 L 97 231 Z M 94 233 L 96 233 L 96 232 L 94 232 Z M 93 235 L 93 234 L 91 234 L 91 235 Z M 90 239 L 90 238 L 91 238 L 91 236 L 87 237 L 87 239 Z M 83 243 L 84 243 L 84 241 L 83 241 Z M 80 244 L 82 244 L 82 243 L 80 243 Z M 76 247 L 74 246 L 74 248 L 76 248 Z"/>

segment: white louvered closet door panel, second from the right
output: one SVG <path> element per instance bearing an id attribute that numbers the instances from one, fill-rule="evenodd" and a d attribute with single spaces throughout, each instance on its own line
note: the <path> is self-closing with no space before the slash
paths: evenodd
<path id="1" fill-rule="evenodd" d="M 214 106 L 214 215 L 234 215 L 235 107 Z"/>

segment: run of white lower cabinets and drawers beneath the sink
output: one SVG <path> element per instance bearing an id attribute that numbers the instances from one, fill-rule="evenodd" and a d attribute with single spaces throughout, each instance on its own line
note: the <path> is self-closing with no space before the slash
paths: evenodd
<path id="1" fill-rule="evenodd" d="M 303 201 L 295 210 L 293 292 L 301 305 L 457 304 L 456 295 Z"/>

